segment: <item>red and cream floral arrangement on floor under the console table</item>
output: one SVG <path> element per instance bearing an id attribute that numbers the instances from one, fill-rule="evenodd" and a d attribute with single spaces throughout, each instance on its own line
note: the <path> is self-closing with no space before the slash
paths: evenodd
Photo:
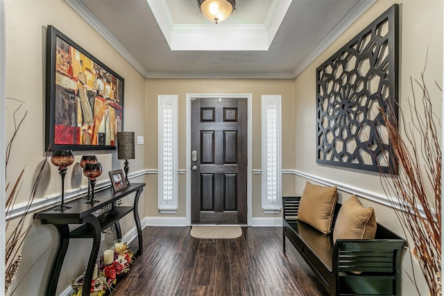
<path id="1" fill-rule="evenodd" d="M 126 243 L 123 247 L 114 250 L 114 261 L 111 264 L 105 265 L 103 260 L 100 260 L 98 275 L 91 281 L 89 295 L 103 296 L 107 290 L 111 292 L 112 286 L 117 283 L 117 276 L 130 271 L 131 263 L 133 263 L 133 252 Z M 72 296 L 82 295 L 84 280 L 85 274 L 73 281 L 71 286 L 76 292 Z"/>

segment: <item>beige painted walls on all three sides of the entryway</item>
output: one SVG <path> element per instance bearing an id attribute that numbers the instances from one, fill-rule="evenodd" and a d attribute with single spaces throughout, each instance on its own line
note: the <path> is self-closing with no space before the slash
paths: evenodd
<path id="1" fill-rule="evenodd" d="M 342 182 L 359 189 L 383 193 L 379 175 L 366 171 L 335 168 L 316 164 L 316 96 L 315 70 L 319 64 L 336 52 L 343 44 L 354 37 L 362 28 L 370 24 L 394 1 L 377 1 L 355 24 L 346 30 L 338 40 L 323 52 L 296 80 L 193 80 L 193 79 L 145 79 L 112 46 L 105 42 L 74 10 L 62 0 L 6 0 L 6 96 L 24 101 L 23 112 L 28 111 L 26 121 L 12 147 L 8 180 L 17 177 L 26 166 L 24 184 L 19 202 L 28 198 L 33 175 L 43 160 L 44 151 L 44 55 L 46 26 L 51 24 L 62 33 L 76 41 L 101 62 L 114 69 L 125 78 L 125 129 L 145 136 L 144 146 L 137 146 L 137 160 L 130 160 L 130 172 L 144 169 L 157 169 L 157 95 L 178 94 L 179 97 L 179 169 L 185 167 L 185 98 L 187 93 L 241 93 L 253 94 L 253 170 L 261 168 L 261 120 L 260 97 L 262 94 L 282 95 L 282 168 L 320 178 Z M 427 46 L 429 50 L 426 69 L 426 81 L 442 81 L 442 37 L 443 3 L 439 0 L 400 1 L 400 98 L 411 96 L 409 78 L 419 78 L 425 64 Z M 433 83 L 430 83 L 431 88 Z M 434 98 L 441 98 L 441 92 L 433 92 Z M 436 110 L 441 110 L 441 101 L 434 102 Z M 6 139 L 11 137 L 12 112 L 19 103 L 6 101 Z M 22 113 L 23 114 L 23 113 Z M 438 111 L 439 114 L 439 111 Z M 28 149 L 30 146 L 33 149 Z M 86 153 L 85 153 L 86 154 Z M 121 168 L 122 162 L 114 153 L 98 152 L 103 163 L 103 171 Z M 77 161 L 81 153 L 76 153 Z M 71 189 L 71 169 L 69 168 L 65 187 Z M 180 175 L 179 209 L 176 215 L 166 217 L 185 217 L 186 175 Z M 99 178 L 107 180 L 105 173 Z M 302 177 L 283 175 L 283 195 L 300 194 L 305 180 Z M 144 196 L 141 198 L 140 216 L 160 217 L 157 211 L 157 175 L 148 174 L 136 181 L 147 182 Z M 261 209 L 261 179 L 253 175 L 253 217 L 277 217 L 264 215 Z M 83 180 L 83 186 L 86 180 Z M 60 179 L 57 169 L 49 165 L 39 189 L 39 197 L 60 192 Z M 348 193 L 341 193 L 341 199 L 348 198 Z M 144 202 L 145 200 L 145 202 Z M 375 207 L 377 220 L 396 232 L 400 226 L 393 211 L 381 204 L 362 200 L 364 205 Z M 123 234 L 128 232 L 132 223 L 126 218 L 122 223 Z M 24 261 L 19 269 L 20 283 L 15 295 L 43 295 L 46 286 L 47 270 L 56 251 L 58 234 L 51 226 L 35 223 L 26 238 Z M 70 244 L 65 265 L 60 275 L 58 293 L 69 286 L 85 268 L 85 254 L 90 250 L 88 240 L 76 240 Z M 404 263 L 404 265 L 408 265 Z M 403 290 L 413 291 L 406 276 L 403 277 Z M 424 288 L 424 287 L 422 287 Z M 424 290 L 424 289 L 422 289 Z M 424 293 L 426 294 L 426 293 Z M 407 295 L 407 294 L 406 294 Z"/>

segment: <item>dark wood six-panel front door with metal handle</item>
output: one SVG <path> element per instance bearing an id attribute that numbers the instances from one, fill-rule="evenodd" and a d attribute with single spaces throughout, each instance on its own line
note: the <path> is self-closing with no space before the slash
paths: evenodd
<path id="1" fill-rule="evenodd" d="M 191 223 L 247 221 L 247 100 L 191 101 Z"/>

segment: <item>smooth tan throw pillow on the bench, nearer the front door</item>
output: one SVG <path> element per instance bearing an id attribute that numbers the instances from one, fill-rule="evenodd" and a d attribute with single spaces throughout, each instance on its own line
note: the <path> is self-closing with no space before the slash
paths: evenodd
<path id="1" fill-rule="evenodd" d="M 337 200 L 337 189 L 305 183 L 300 198 L 298 219 L 329 234 L 332 228 L 334 206 Z"/>

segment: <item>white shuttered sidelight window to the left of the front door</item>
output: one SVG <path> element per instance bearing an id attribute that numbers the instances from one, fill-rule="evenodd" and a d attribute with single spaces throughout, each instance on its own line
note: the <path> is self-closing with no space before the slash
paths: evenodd
<path id="1" fill-rule="evenodd" d="M 158 96 L 159 211 L 174 214 L 178 208 L 178 96 Z"/>

